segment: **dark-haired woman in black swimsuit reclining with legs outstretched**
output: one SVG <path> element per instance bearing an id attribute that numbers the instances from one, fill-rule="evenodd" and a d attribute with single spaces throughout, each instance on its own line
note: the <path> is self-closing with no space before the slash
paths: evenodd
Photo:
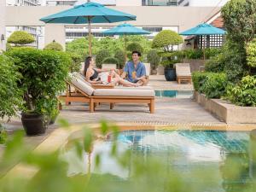
<path id="1" fill-rule="evenodd" d="M 126 81 L 125 79 L 121 79 L 117 73 L 114 72 L 114 69 L 99 69 L 94 68 L 94 60 L 91 56 L 86 57 L 84 61 L 84 77 L 86 81 L 90 84 L 97 84 L 102 83 L 101 79 L 99 78 L 99 73 L 102 72 L 110 72 L 112 76 L 112 81 L 110 84 L 123 84 L 124 86 L 134 86 L 137 87 L 141 84 L 131 83 Z"/>

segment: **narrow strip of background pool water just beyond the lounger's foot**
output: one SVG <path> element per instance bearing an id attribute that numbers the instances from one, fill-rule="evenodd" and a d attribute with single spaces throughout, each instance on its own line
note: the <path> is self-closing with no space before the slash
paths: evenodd
<path id="1" fill-rule="evenodd" d="M 193 96 L 193 90 L 154 90 L 154 92 L 158 97 L 190 98 Z"/>

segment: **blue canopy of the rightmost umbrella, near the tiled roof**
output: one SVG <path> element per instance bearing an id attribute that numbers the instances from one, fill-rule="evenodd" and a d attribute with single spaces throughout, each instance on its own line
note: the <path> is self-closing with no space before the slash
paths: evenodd
<path id="1" fill-rule="evenodd" d="M 179 34 L 184 36 L 189 36 L 189 35 L 224 35 L 225 33 L 226 32 L 222 29 L 219 29 L 215 26 L 211 26 L 207 23 L 203 23 L 185 32 L 181 32 Z"/>

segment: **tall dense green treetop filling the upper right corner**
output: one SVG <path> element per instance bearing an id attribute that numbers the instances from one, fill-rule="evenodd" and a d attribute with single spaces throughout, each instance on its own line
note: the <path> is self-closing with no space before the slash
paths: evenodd
<path id="1" fill-rule="evenodd" d="M 256 1 L 230 0 L 221 9 L 228 38 L 240 46 L 251 41 L 256 34 Z"/>

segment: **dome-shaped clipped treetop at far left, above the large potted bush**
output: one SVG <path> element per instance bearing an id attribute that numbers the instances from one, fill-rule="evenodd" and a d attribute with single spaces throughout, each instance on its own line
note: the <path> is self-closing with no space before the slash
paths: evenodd
<path id="1" fill-rule="evenodd" d="M 13 32 L 7 39 L 9 44 L 15 44 L 15 46 L 22 46 L 24 44 L 32 44 L 35 39 L 28 32 L 16 31 Z"/>

